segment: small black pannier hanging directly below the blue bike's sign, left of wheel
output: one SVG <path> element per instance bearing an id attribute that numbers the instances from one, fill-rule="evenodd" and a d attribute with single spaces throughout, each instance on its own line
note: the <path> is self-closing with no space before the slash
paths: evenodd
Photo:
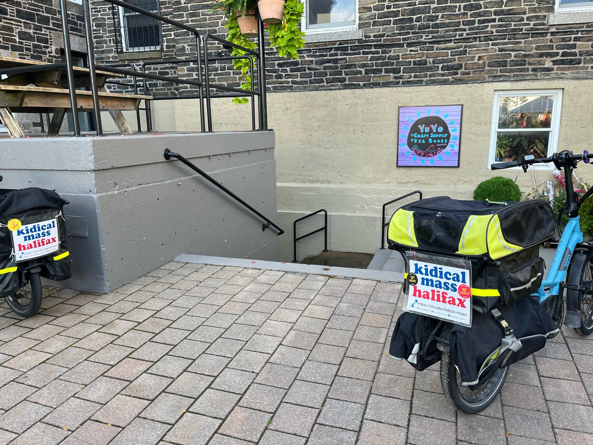
<path id="1" fill-rule="evenodd" d="M 436 348 L 431 336 L 436 335 L 443 322 L 411 312 L 404 312 L 397 319 L 391 336 L 389 355 L 396 360 L 406 360 L 419 371 L 441 360 L 442 352 Z"/>

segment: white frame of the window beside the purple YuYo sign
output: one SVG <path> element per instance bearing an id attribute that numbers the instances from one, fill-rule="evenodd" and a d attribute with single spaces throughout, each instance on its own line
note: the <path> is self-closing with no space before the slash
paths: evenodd
<path id="1" fill-rule="evenodd" d="M 550 157 L 558 150 L 558 135 L 560 131 L 560 115 L 562 113 L 562 91 L 563 90 L 499 90 L 494 92 L 494 101 L 492 104 L 492 129 L 490 130 L 490 148 L 488 151 L 488 166 L 496 162 L 496 134 L 498 132 L 533 132 L 533 131 L 547 131 L 542 128 L 498 128 L 499 118 L 499 102 L 500 97 L 515 97 L 515 96 L 554 96 L 554 105 L 552 108 L 552 120 L 550 123 L 550 138 L 548 141 L 547 157 Z M 549 170 L 553 169 L 553 164 L 534 164 L 535 169 Z M 513 167 L 517 170 L 520 167 Z"/>

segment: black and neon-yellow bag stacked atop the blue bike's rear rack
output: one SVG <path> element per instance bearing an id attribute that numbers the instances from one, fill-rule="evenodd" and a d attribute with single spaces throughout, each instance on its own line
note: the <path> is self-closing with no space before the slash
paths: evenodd
<path id="1" fill-rule="evenodd" d="M 422 199 L 391 217 L 391 249 L 423 250 L 466 258 L 498 260 L 500 266 L 474 263 L 473 309 L 487 313 L 533 294 L 543 280 L 539 244 L 554 236 L 553 213 L 546 201 L 492 203 L 445 196 Z"/>

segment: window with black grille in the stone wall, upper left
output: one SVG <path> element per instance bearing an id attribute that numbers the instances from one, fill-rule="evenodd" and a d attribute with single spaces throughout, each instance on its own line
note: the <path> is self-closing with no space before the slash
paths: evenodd
<path id="1" fill-rule="evenodd" d="M 158 0 L 123 0 L 127 4 L 160 14 Z M 161 22 L 129 8 L 115 7 L 113 21 L 118 34 L 118 52 L 162 50 Z"/>

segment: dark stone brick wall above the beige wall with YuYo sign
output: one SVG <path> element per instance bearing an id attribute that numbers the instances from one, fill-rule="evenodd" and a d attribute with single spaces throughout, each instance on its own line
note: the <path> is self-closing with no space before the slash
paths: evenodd
<path id="1" fill-rule="evenodd" d="M 161 4 L 163 14 L 202 33 L 225 33 L 222 17 L 210 12 L 212 2 Z M 554 0 L 359 0 L 362 39 L 308 44 L 299 61 L 279 59 L 268 50 L 268 87 L 292 91 L 590 76 L 593 24 L 549 26 L 553 11 Z M 164 56 L 195 54 L 188 36 L 164 29 Z M 101 55 L 110 58 L 110 52 L 106 46 Z M 195 69 L 183 67 L 161 70 L 195 75 Z M 229 65 L 217 66 L 213 76 L 237 83 Z M 159 85 L 157 94 L 183 89 Z"/>

